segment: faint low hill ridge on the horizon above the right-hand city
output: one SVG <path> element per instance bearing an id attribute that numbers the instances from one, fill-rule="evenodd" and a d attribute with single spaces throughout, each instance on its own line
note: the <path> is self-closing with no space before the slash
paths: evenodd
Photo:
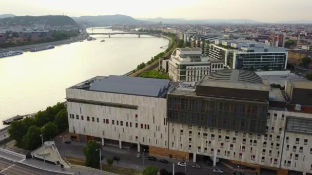
<path id="1" fill-rule="evenodd" d="M 184 19 L 184 18 L 143 18 L 152 22 L 163 24 L 259 24 L 262 22 L 250 20 L 250 19 Z"/>

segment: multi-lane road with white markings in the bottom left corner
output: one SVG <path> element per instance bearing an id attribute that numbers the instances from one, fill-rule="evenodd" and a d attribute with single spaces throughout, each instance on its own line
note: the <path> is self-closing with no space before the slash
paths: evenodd
<path id="1" fill-rule="evenodd" d="M 9 162 L 4 159 L 0 159 L 0 170 L 4 174 L 8 175 L 41 175 L 41 174 L 61 174 L 61 173 L 51 173 L 43 170 L 39 170 L 36 168 L 32 168 L 29 166 L 25 166 L 22 164 L 16 164 Z M 0 173 L 1 174 L 1 173 Z"/>

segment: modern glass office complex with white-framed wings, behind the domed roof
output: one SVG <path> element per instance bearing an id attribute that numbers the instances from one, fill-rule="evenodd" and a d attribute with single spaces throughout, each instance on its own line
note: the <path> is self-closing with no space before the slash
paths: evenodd
<path id="1" fill-rule="evenodd" d="M 248 40 L 216 40 L 209 45 L 208 56 L 224 61 L 230 69 L 286 69 L 288 53 L 285 48 L 268 47 Z"/>

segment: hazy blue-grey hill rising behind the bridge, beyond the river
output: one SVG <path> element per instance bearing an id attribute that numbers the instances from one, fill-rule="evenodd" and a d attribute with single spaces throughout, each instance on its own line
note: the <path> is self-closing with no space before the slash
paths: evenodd
<path id="1" fill-rule="evenodd" d="M 110 25 L 133 25 L 145 24 L 148 21 L 134 19 L 131 16 L 115 14 L 100 16 L 80 16 L 72 17 L 78 24 L 88 26 L 110 26 Z"/>

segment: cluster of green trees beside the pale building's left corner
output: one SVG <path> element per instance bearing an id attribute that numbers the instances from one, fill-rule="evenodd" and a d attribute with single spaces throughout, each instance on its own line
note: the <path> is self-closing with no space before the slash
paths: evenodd
<path id="1" fill-rule="evenodd" d="M 34 117 L 13 121 L 8 129 L 10 138 L 16 141 L 16 146 L 32 150 L 54 138 L 68 128 L 67 109 L 63 103 L 49 106 L 39 111 Z"/>

